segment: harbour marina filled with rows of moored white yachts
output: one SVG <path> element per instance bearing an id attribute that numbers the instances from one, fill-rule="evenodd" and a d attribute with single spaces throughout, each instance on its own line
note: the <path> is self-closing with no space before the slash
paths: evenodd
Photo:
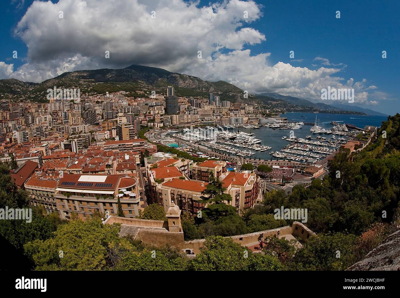
<path id="1" fill-rule="evenodd" d="M 310 121 L 310 116 L 314 117 L 314 122 Z M 348 129 L 340 120 L 321 121 L 315 113 L 307 117 L 303 121 L 289 117 L 288 121 L 269 118 L 257 125 L 215 125 L 168 131 L 168 141 L 192 147 L 192 151 L 202 146 L 214 153 L 247 159 L 317 163 L 360 133 L 360 128 Z M 311 127 L 308 124 L 312 124 Z"/>

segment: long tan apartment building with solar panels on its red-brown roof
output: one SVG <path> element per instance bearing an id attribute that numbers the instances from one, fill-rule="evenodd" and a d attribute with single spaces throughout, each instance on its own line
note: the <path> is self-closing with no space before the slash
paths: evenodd
<path id="1" fill-rule="evenodd" d="M 71 219 L 77 213 L 80 219 L 93 213 L 118 213 L 118 197 L 126 217 L 135 217 L 140 210 L 137 178 L 134 175 L 80 175 L 64 174 L 55 189 L 60 216 Z"/>

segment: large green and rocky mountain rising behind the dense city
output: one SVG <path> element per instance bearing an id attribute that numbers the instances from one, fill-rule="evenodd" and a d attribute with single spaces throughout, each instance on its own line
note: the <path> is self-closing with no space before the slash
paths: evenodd
<path id="1" fill-rule="evenodd" d="M 203 96 L 218 93 L 221 100 L 235 101 L 243 90 L 225 81 L 203 81 L 198 77 L 169 72 L 162 68 L 131 65 L 121 69 L 77 70 L 65 72 L 42 83 L 27 83 L 16 79 L 0 80 L 0 92 L 8 95 L 25 94 L 28 99 L 45 101 L 47 89 L 80 88 L 82 93 L 127 91 L 132 96 L 145 97 L 156 91 L 165 93 L 173 85 L 181 96 Z M 16 90 L 19 90 L 16 92 Z"/>

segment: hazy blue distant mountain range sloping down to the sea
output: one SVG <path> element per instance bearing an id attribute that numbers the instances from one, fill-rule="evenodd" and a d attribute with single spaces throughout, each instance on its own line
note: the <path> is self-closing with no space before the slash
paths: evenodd
<path id="1" fill-rule="evenodd" d="M 291 104 L 295 105 L 303 105 L 306 107 L 315 107 L 318 109 L 322 110 L 336 110 L 336 111 L 354 111 L 354 112 L 360 112 L 360 113 L 365 113 L 368 115 L 385 115 L 383 113 L 373 111 L 371 109 L 364 109 L 362 107 L 358 107 L 356 105 L 345 105 L 342 103 L 332 103 L 330 105 L 326 103 L 314 103 L 312 101 L 306 100 L 306 99 L 301 99 L 298 97 L 293 97 L 293 96 L 288 96 L 288 95 L 281 95 L 278 93 L 272 93 L 272 92 L 266 92 L 266 93 L 261 93 L 261 94 L 256 94 L 256 97 L 261 97 L 261 96 L 266 96 L 274 99 L 280 99 L 283 101 L 286 101 Z"/>

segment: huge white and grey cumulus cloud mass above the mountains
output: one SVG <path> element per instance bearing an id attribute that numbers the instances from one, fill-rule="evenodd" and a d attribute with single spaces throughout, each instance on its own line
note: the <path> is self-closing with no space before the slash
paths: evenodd
<path id="1" fill-rule="evenodd" d="M 374 86 L 353 79 L 343 83 L 338 72 L 345 64 L 316 57 L 319 66 L 310 70 L 283 62 L 272 65 L 269 52 L 252 55 L 244 46 L 265 42 L 268 49 L 267 37 L 251 27 L 260 18 L 262 6 L 253 0 L 206 6 L 183 0 L 34 1 L 14 30 L 28 47 L 26 63 L 14 70 L 13 64 L 0 62 L 0 78 L 39 82 L 74 70 L 142 64 L 222 79 L 250 93 L 274 91 L 318 100 L 327 86 L 354 87 L 356 101 L 368 103 L 367 89 Z"/>

